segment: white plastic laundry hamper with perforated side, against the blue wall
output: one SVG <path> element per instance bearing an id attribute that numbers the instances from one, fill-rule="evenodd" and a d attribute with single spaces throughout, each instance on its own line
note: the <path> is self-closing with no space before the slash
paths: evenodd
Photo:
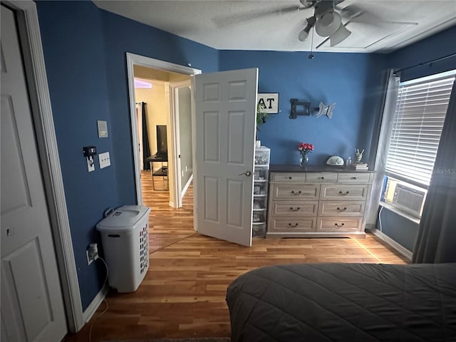
<path id="1" fill-rule="evenodd" d="M 118 292 L 136 291 L 149 269 L 149 212 L 142 205 L 124 205 L 97 224 L 108 284 Z"/>

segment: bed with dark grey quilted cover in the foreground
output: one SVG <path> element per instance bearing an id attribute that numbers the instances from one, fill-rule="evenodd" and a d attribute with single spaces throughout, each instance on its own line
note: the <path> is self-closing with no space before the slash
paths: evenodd
<path id="1" fill-rule="evenodd" d="M 228 286 L 232 341 L 456 341 L 456 264 L 290 264 Z"/>

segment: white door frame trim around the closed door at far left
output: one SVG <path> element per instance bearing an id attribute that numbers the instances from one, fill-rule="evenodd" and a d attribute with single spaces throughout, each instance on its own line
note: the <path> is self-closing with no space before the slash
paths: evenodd
<path id="1" fill-rule="evenodd" d="M 32 120 L 36 131 L 38 158 L 43 170 L 43 183 L 56 247 L 58 274 L 63 292 L 68 331 L 76 333 L 84 326 L 81 292 L 79 291 L 78 273 L 53 123 L 41 31 L 38 24 L 38 11 L 35 2 L 31 0 L 8 0 L 2 1 L 2 3 L 16 13 L 18 21 Z"/>

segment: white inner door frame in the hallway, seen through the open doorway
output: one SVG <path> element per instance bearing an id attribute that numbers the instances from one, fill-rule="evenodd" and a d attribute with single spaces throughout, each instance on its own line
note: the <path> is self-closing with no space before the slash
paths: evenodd
<path id="1" fill-rule="evenodd" d="M 171 132 L 172 132 L 172 145 L 175 151 L 173 157 L 175 162 L 174 176 L 176 179 L 175 192 L 175 207 L 182 207 L 182 166 L 180 155 L 180 115 L 179 115 L 179 98 L 177 98 L 177 90 L 179 88 L 189 87 L 192 90 L 192 81 L 180 81 L 170 83 L 170 98 L 171 98 Z M 191 96 L 191 95 L 190 95 Z M 192 110 L 190 108 L 190 110 Z M 190 133 L 192 134 L 192 133 Z M 193 146 L 192 146 L 193 147 Z"/>

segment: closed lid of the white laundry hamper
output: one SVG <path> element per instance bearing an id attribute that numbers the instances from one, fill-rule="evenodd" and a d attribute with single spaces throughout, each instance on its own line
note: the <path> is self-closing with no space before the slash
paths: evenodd
<path id="1" fill-rule="evenodd" d="M 100 232 L 120 232 L 135 228 L 135 224 L 149 214 L 150 208 L 143 205 L 124 205 L 108 214 L 97 224 Z"/>

